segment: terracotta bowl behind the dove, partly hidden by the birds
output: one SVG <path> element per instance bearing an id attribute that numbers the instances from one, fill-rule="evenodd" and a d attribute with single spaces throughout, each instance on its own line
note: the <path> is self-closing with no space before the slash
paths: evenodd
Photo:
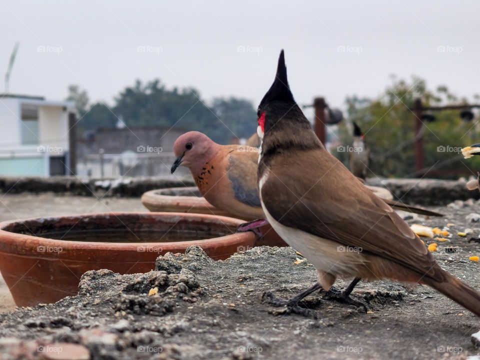
<path id="1" fill-rule="evenodd" d="M 210 204 L 201 196 L 196 186 L 150 190 L 141 196 L 141 203 L 150 211 L 213 213 L 215 215 L 237 217 Z M 247 221 L 249 219 L 243 220 Z M 264 235 L 255 243 L 255 246 L 288 246 L 271 228 L 271 225 L 260 227 L 260 231 Z"/>

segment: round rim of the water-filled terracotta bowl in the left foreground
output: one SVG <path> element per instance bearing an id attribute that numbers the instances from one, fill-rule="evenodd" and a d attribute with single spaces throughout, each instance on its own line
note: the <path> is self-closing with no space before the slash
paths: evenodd
<path id="1" fill-rule="evenodd" d="M 104 217 L 104 216 L 125 216 L 125 215 L 141 215 L 145 217 L 162 217 L 163 219 L 170 219 L 171 223 L 176 223 L 180 220 L 191 221 L 195 219 L 207 219 L 211 220 L 212 223 L 226 222 L 230 225 L 239 225 L 244 222 L 233 217 L 221 216 L 221 215 L 210 215 L 210 214 L 200 214 L 200 213 L 185 213 L 185 212 L 151 212 L 151 211 L 111 211 L 111 212 L 93 212 L 93 213 L 80 213 L 80 214 L 71 214 L 71 215 L 61 215 L 61 216 L 48 216 L 48 217 L 29 217 L 25 219 L 17 220 L 7 220 L 0 222 L 0 251 L 8 253 L 21 253 L 22 255 L 39 257 L 36 248 L 39 245 L 51 246 L 51 247 L 61 247 L 62 251 L 57 253 L 55 257 L 62 257 L 62 254 L 68 256 L 70 251 L 68 250 L 77 250 L 77 249 L 89 249 L 89 250 L 123 250 L 123 251 L 133 251 L 138 252 L 138 247 L 141 246 L 145 249 L 148 248 L 158 248 L 161 247 L 165 250 L 169 248 L 178 249 L 180 247 L 188 247 L 192 245 L 217 245 L 224 246 L 235 243 L 242 242 L 255 242 L 256 235 L 252 231 L 246 232 L 235 232 L 223 236 L 211 237 L 203 240 L 188 240 L 188 241 L 169 241 L 169 242 L 101 242 L 101 241 L 74 241 L 74 240 L 58 240 L 47 237 L 38 237 L 26 234 L 20 234 L 17 232 L 11 232 L 4 230 L 5 226 L 11 225 L 12 223 L 19 223 L 29 220 L 38 220 L 41 218 L 44 219 L 55 219 L 55 218 L 83 218 L 83 217 Z M 179 217 L 178 220 L 175 220 L 175 217 Z M 3 249 L 2 245 L 10 245 L 8 250 Z M 13 246 L 11 246 L 13 245 Z M 30 252 L 30 249 L 35 249 L 35 251 Z M 51 254 L 51 253 L 49 253 Z M 41 256 L 40 256 L 41 257 Z M 49 257 L 49 256 L 48 256 Z"/>

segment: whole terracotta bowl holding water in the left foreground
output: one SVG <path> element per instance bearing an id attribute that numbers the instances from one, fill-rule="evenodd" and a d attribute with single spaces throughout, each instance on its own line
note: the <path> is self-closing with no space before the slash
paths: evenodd
<path id="1" fill-rule="evenodd" d="M 232 233 L 241 222 L 172 212 L 106 212 L 4 221 L 0 223 L 0 271 L 18 306 L 54 302 L 76 294 L 80 276 L 87 270 L 146 272 L 154 268 L 158 255 L 183 252 L 190 245 L 201 246 L 214 259 L 225 259 L 253 246 L 256 240 L 251 231 Z M 160 241 L 165 234 L 176 241 Z M 102 239 L 109 242 L 100 242 Z M 136 242 L 120 242 L 132 239 Z"/>

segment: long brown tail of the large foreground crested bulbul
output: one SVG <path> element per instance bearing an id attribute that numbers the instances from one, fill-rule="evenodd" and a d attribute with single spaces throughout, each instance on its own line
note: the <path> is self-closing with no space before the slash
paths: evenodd
<path id="1" fill-rule="evenodd" d="M 445 277 L 442 282 L 430 278 L 424 279 L 423 282 L 480 316 L 480 293 L 448 272 L 442 270 L 442 274 Z"/>

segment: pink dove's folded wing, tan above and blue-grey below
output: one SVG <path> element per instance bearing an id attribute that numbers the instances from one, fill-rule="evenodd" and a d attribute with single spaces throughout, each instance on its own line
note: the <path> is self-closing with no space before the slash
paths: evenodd
<path id="1" fill-rule="evenodd" d="M 255 155 L 241 157 L 230 155 L 227 171 L 235 198 L 249 206 L 261 207 L 256 188 L 256 158 Z"/>

